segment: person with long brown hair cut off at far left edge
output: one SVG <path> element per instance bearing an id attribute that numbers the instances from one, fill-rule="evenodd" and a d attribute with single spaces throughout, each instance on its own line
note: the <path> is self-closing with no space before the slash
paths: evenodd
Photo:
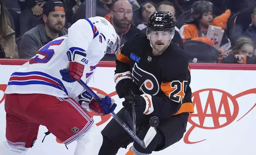
<path id="1" fill-rule="evenodd" d="M 0 0 L 0 58 L 19 58 L 15 32 L 10 28 L 10 20 L 2 0 Z"/>

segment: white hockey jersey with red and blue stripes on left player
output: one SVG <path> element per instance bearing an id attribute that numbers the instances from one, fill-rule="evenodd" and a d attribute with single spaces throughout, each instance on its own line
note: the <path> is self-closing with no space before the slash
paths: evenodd
<path id="1" fill-rule="evenodd" d="M 60 70 L 67 67 L 67 51 L 81 48 L 88 64 L 83 77 L 88 83 L 105 55 L 107 43 L 89 19 L 80 19 L 68 29 L 68 35 L 56 38 L 39 49 L 35 57 L 15 70 L 8 82 L 6 94 L 47 94 L 56 97 L 77 97 L 83 87 L 78 83 L 62 80 Z"/>

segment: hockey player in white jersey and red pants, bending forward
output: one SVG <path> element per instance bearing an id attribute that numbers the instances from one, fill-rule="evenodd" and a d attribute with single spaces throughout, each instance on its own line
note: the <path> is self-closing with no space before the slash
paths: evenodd
<path id="1" fill-rule="evenodd" d="M 77 80 L 88 83 L 99 60 L 115 50 L 115 42 L 114 27 L 103 17 L 80 19 L 68 36 L 49 42 L 19 67 L 5 91 L 7 140 L 0 144 L 0 154 L 25 155 L 43 125 L 66 145 L 76 140 L 75 155 L 97 155 L 101 132 L 83 107 L 106 115 L 116 104 L 109 96 L 99 104 L 88 100 Z"/>

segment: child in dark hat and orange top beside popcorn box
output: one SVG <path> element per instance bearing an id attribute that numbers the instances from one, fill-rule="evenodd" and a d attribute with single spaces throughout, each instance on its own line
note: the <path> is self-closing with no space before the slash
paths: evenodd
<path id="1" fill-rule="evenodd" d="M 192 4 L 192 13 L 186 24 L 180 28 L 185 39 L 198 40 L 213 45 L 211 40 L 206 38 L 209 25 L 219 26 L 222 29 L 227 28 L 227 21 L 231 15 L 230 10 L 225 11 L 218 17 L 213 18 L 213 4 L 208 1 L 196 1 Z M 224 39 L 225 38 L 225 39 Z M 221 40 L 222 51 L 226 51 L 231 47 L 230 40 L 223 35 Z"/>

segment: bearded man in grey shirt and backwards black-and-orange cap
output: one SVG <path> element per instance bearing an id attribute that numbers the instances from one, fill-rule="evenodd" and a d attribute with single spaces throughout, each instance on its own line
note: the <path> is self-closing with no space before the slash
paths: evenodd
<path id="1" fill-rule="evenodd" d="M 48 42 L 68 34 L 65 25 L 65 11 L 63 3 L 58 0 L 47 1 L 43 6 L 43 16 L 40 24 L 27 31 L 21 38 L 19 56 L 31 59 L 37 51 Z"/>

